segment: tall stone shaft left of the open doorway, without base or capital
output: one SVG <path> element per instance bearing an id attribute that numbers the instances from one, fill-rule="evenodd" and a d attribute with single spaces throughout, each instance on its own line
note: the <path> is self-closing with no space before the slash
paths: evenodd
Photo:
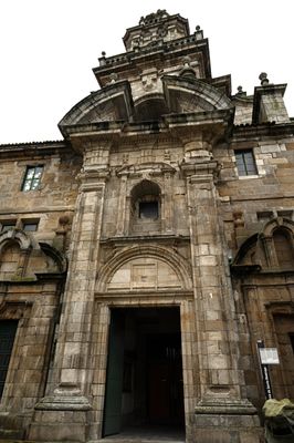
<path id="1" fill-rule="evenodd" d="M 96 261 L 98 255 L 105 184 L 82 192 L 75 238 L 61 317 L 62 361 L 60 382 L 73 383 L 83 391 L 87 381 L 87 359 L 91 343 L 91 318 L 94 305 Z"/>

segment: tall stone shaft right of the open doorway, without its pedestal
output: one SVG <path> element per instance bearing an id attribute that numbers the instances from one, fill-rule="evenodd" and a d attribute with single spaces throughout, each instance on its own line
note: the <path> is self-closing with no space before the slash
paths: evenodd
<path id="1" fill-rule="evenodd" d="M 200 398 L 240 399 L 233 301 L 223 262 L 212 174 L 188 178 Z"/>

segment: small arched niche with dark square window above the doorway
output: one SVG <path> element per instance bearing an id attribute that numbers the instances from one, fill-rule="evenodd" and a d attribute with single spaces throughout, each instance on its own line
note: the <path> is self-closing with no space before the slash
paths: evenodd
<path id="1" fill-rule="evenodd" d="M 138 183 L 130 194 L 130 219 L 134 231 L 160 227 L 160 187 L 148 179 Z"/>

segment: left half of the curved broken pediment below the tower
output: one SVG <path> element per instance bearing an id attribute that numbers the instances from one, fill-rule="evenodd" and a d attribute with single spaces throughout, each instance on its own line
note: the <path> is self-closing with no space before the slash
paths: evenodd
<path id="1" fill-rule="evenodd" d="M 117 82 L 87 95 L 59 123 L 61 133 L 66 136 L 67 126 L 109 121 L 129 121 L 133 115 L 133 99 L 127 81 Z"/>

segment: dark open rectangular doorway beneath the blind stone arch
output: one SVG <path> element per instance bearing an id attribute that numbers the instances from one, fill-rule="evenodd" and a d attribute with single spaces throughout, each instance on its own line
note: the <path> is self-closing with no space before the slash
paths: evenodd
<path id="1" fill-rule="evenodd" d="M 113 309 L 103 436 L 185 427 L 179 308 Z"/>

